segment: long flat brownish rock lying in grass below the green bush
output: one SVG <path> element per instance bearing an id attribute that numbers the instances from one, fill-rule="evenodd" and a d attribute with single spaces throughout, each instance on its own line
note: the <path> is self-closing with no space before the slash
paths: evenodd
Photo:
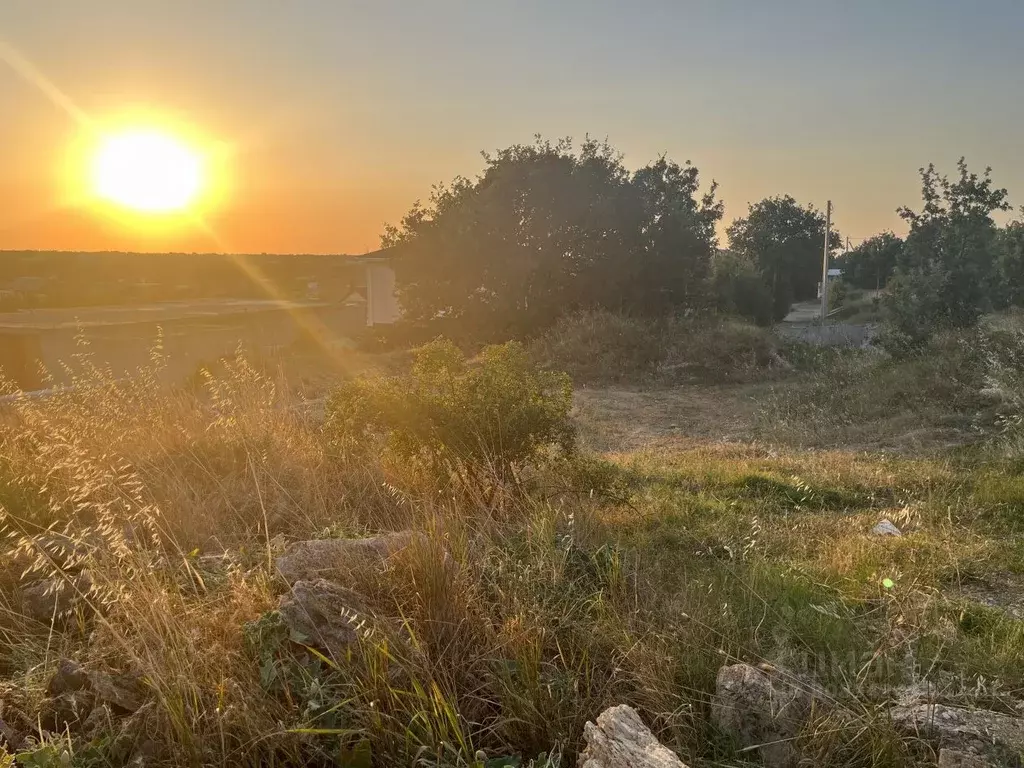
<path id="1" fill-rule="evenodd" d="M 337 581 L 345 573 L 380 566 L 409 547 L 425 546 L 427 543 L 427 537 L 415 530 L 368 539 L 313 539 L 289 545 L 275 564 L 289 584 L 317 579 Z"/>

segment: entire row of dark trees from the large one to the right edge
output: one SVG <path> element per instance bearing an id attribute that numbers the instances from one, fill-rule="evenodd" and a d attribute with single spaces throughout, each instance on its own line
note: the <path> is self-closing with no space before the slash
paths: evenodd
<path id="1" fill-rule="evenodd" d="M 817 296 L 825 217 L 790 196 L 751 205 L 721 249 L 717 184 L 702 187 L 689 162 L 630 170 L 607 141 L 540 136 L 483 161 L 385 229 L 407 327 L 521 338 L 581 309 L 768 325 Z M 836 262 L 853 286 L 888 288 L 891 337 L 907 346 L 1024 302 L 1024 223 L 996 226 L 992 214 L 1009 206 L 990 169 L 957 169 L 951 180 L 922 169 L 921 209 L 899 209 L 905 239 L 880 233 Z M 833 230 L 830 251 L 842 242 Z"/>

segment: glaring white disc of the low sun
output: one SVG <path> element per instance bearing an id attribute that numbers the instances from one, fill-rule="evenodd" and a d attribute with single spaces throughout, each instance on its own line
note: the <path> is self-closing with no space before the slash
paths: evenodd
<path id="1" fill-rule="evenodd" d="M 203 170 L 200 154 L 174 136 L 132 130 L 102 139 L 92 161 L 92 187 L 126 208 L 170 213 L 195 202 Z"/>

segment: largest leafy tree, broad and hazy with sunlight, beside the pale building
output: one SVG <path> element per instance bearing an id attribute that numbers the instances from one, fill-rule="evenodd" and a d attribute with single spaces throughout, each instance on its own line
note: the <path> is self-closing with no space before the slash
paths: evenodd
<path id="1" fill-rule="evenodd" d="M 696 168 L 631 173 L 589 138 L 483 157 L 477 178 L 435 187 L 385 231 L 410 322 L 508 338 L 571 309 L 666 312 L 702 295 L 722 206 Z"/>

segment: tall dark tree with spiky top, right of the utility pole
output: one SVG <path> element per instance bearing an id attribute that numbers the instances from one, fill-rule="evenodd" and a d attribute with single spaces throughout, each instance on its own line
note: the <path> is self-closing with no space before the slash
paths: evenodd
<path id="1" fill-rule="evenodd" d="M 918 347 L 943 328 L 970 327 L 1000 302 L 992 213 L 1009 209 L 1007 190 L 992 186 L 991 168 L 979 176 L 964 158 L 956 168 L 952 181 L 934 165 L 922 168 L 922 210 L 898 209 L 910 232 L 887 299 L 890 349 Z"/>

